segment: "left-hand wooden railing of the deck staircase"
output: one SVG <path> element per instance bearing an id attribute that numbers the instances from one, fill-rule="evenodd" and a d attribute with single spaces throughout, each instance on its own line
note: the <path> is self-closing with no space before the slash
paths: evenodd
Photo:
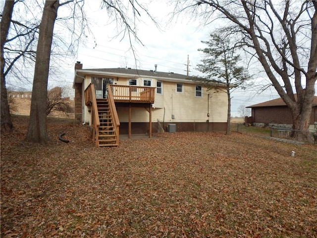
<path id="1" fill-rule="evenodd" d="M 90 105 L 91 107 L 90 121 L 91 121 L 91 126 L 93 127 L 93 141 L 96 143 L 96 146 L 99 146 L 98 135 L 99 135 L 100 120 L 98 115 L 95 86 L 93 83 L 89 84 L 88 87 L 85 89 L 85 104 L 86 106 Z"/>

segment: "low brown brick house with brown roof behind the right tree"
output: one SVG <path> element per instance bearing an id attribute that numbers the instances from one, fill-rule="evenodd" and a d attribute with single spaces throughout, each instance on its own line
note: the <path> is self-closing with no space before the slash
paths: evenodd
<path id="1" fill-rule="evenodd" d="M 286 106 L 282 98 L 273 99 L 264 103 L 248 106 L 251 108 L 252 115 L 246 122 L 255 125 L 283 125 L 283 127 L 292 127 L 293 119 L 290 109 Z M 310 121 L 310 131 L 315 131 L 315 122 L 317 121 L 317 96 L 314 96 L 313 107 Z"/>

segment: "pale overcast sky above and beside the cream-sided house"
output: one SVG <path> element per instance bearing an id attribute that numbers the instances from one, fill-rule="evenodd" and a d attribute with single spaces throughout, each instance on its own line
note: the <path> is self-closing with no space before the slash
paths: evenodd
<path id="1" fill-rule="evenodd" d="M 130 49 L 128 37 L 122 39 L 122 35 L 117 35 L 116 25 L 109 23 L 106 11 L 100 11 L 99 0 L 85 1 L 85 11 L 91 22 L 91 32 L 81 42 L 76 59 L 65 60 L 61 65 L 60 77 L 50 77 L 49 85 L 72 85 L 74 77 L 74 64 L 76 61 L 83 63 L 83 68 L 111 68 L 111 67 L 131 67 L 140 69 L 155 69 L 163 72 L 175 72 L 186 74 L 187 58 L 189 57 L 189 74 L 201 75 L 196 69 L 197 64 L 202 59 L 202 54 L 198 49 L 205 48 L 201 41 L 208 40 L 210 32 L 218 27 L 218 23 L 203 25 L 198 20 L 187 17 L 178 17 L 177 21 L 170 20 L 170 12 L 173 7 L 164 4 L 164 1 L 152 1 L 148 3 L 151 15 L 159 23 L 160 29 L 141 12 L 141 19 L 137 25 L 137 35 L 144 46 L 132 41 L 135 49 L 134 54 Z M 149 1 L 145 1 L 149 2 Z M 2 5 L 2 4 L 1 4 Z M 59 8 L 59 11 L 61 9 Z M 58 25 L 55 25 L 55 30 Z M 136 58 L 135 58 L 135 57 Z M 252 69 L 259 70 L 259 69 Z M 258 78 L 259 81 L 267 79 Z M 317 89 L 316 89 L 317 91 Z M 250 106 L 267 100 L 278 98 L 275 90 L 269 89 L 262 92 L 252 88 L 247 90 L 238 89 L 232 94 L 232 116 L 239 116 L 238 107 L 240 105 Z"/>

